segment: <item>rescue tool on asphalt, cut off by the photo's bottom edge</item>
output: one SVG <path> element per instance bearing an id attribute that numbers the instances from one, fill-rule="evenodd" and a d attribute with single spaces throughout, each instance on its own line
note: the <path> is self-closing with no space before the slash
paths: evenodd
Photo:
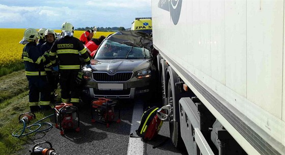
<path id="1" fill-rule="evenodd" d="M 38 145 L 44 144 L 44 143 L 48 143 L 49 148 L 38 146 Z M 52 148 L 51 143 L 48 141 L 43 141 L 43 142 L 39 142 L 39 143 L 35 144 L 34 147 L 32 148 L 32 150 L 29 150 L 29 152 L 31 152 L 31 155 L 56 155 L 56 154 L 59 154 L 59 153 L 55 152 L 55 150 Z"/>

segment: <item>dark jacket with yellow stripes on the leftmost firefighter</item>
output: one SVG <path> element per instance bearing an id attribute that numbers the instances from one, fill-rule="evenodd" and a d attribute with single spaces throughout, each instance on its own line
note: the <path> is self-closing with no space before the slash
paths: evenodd
<path id="1" fill-rule="evenodd" d="M 44 62 L 47 56 L 41 55 L 35 42 L 28 43 L 22 53 L 26 75 L 46 75 Z"/>

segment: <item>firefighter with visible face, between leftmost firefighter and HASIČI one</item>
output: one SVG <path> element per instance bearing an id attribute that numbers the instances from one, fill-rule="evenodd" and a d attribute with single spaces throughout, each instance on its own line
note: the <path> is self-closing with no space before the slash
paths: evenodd
<path id="1" fill-rule="evenodd" d="M 45 52 L 49 52 L 53 43 L 56 40 L 56 33 L 53 29 L 47 29 L 44 32 L 44 36 L 45 36 L 46 42 L 41 47 L 42 54 L 44 54 Z M 55 97 L 56 97 L 55 91 L 56 89 L 58 89 L 59 76 L 58 74 L 53 74 L 52 70 L 50 69 L 52 64 L 49 58 L 47 60 L 49 63 L 45 65 L 46 66 L 45 72 L 46 72 L 47 82 L 48 82 L 49 89 L 50 89 L 50 102 L 55 102 Z"/>

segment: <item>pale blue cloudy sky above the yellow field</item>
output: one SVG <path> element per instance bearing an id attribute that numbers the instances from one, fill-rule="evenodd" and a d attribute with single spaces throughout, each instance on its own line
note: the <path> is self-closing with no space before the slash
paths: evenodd
<path id="1" fill-rule="evenodd" d="M 0 28 L 131 27 L 136 17 L 151 17 L 151 0 L 31 1 L 1 0 Z"/>

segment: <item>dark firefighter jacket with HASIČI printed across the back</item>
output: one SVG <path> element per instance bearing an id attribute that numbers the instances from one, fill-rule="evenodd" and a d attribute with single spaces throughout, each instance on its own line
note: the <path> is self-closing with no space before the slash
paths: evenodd
<path id="1" fill-rule="evenodd" d="M 90 64 L 90 58 L 86 48 L 73 36 L 65 36 L 56 40 L 50 49 L 50 61 L 52 66 L 57 66 L 56 56 L 60 62 L 60 69 L 81 69 L 79 54 L 86 64 Z"/>

